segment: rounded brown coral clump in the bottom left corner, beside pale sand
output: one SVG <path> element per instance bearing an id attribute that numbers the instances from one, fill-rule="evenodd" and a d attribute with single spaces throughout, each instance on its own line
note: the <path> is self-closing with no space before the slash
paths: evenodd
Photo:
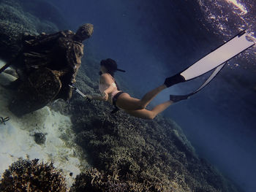
<path id="1" fill-rule="evenodd" d="M 67 191 L 61 172 L 53 163 L 43 164 L 34 160 L 19 160 L 3 174 L 0 191 Z"/>

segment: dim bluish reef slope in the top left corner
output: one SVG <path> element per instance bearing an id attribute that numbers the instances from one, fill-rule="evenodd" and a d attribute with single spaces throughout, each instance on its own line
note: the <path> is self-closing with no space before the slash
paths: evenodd
<path id="1" fill-rule="evenodd" d="M 50 6 L 50 5 L 49 5 Z M 0 57 L 10 60 L 21 48 L 24 33 L 39 34 L 59 31 L 49 20 L 26 12 L 18 0 L 2 0 L 0 2 Z"/>

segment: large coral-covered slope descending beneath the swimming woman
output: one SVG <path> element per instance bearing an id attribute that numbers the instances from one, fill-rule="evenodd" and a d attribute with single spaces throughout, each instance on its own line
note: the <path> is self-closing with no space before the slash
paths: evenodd
<path id="1" fill-rule="evenodd" d="M 92 60 L 86 61 L 97 68 Z M 82 66 L 77 83 L 83 93 L 91 94 L 97 84 L 87 80 L 97 77 L 86 74 L 90 72 Z M 72 114 L 78 145 L 100 172 L 80 174 L 76 189 L 100 191 L 109 184 L 116 191 L 120 186 L 123 191 L 238 191 L 214 166 L 197 157 L 181 128 L 170 119 L 141 120 L 124 112 L 112 115 L 110 104 L 84 101 L 75 94 L 64 108 L 62 112 Z"/>

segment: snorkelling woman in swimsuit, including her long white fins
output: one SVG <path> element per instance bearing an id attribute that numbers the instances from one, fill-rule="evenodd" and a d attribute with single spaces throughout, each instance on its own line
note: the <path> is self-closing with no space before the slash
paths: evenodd
<path id="1" fill-rule="evenodd" d="M 116 61 L 111 58 L 102 60 L 100 62 L 100 79 L 99 79 L 99 91 L 102 93 L 102 96 L 87 96 L 88 99 L 108 101 L 110 104 L 113 104 L 120 110 L 124 110 L 129 115 L 135 116 L 137 118 L 145 119 L 154 119 L 159 112 L 164 111 L 167 107 L 177 101 L 187 99 L 189 96 L 200 91 L 209 82 L 218 74 L 220 69 L 225 65 L 226 61 L 229 61 L 234 56 L 242 53 L 244 50 L 248 49 L 255 45 L 255 42 L 249 41 L 246 35 L 246 31 L 241 31 L 235 37 L 231 38 L 221 46 L 217 47 L 216 50 L 211 51 L 206 56 L 189 66 L 183 72 L 178 73 L 172 77 L 167 77 L 165 82 L 157 88 L 154 88 L 152 91 L 146 93 L 142 99 L 135 99 L 129 96 L 128 93 L 119 91 L 116 86 L 116 81 L 113 78 L 116 71 L 124 72 L 121 69 L 117 68 Z M 236 49 L 234 48 L 236 47 Z M 225 54 L 223 54 L 225 53 Z M 170 100 L 165 101 L 162 104 L 158 104 L 152 110 L 146 110 L 146 106 L 165 88 L 169 88 L 172 85 L 175 85 L 180 82 L 186 82 L 192 80 L 195 77 L 199 77 L 206 72 L 211 71 L 211 76 L 208 77 L 206 82 L 200 86 L 196 91 L 189 93 L 183 96 L 173 96 L 170 95 Z"/>

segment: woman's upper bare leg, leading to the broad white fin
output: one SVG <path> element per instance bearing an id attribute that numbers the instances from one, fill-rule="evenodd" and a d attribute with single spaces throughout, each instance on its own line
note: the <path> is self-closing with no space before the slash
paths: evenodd
<path id="1" fill-rule="evenodd" d="M 118 97 L 116 105 L 124 110 L 143 110 L 149 104 L 149 102 L 152 101 L 154 97 L 165 88 L 165 85 L 161 85 L 158 88 L 146 93 L 142 99 L 135 99 L 129 96 L 128 93 L 123 93 Z"/>

